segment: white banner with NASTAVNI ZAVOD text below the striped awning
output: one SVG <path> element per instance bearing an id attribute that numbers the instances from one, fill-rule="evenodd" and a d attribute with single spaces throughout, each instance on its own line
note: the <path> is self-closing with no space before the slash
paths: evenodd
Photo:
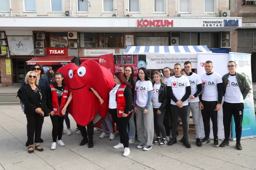
<path id="1" fill-rule="evenodd" d="M 161 54 L 150 53 L 146 55 L 147 69 L 164 69 L 164 67 L 174 68 L 174 64 L 179 63 L 183 67 L 186 61 L 190 61 L 193 69 L 197 68 L 197 53 L 174 53 Z"/>

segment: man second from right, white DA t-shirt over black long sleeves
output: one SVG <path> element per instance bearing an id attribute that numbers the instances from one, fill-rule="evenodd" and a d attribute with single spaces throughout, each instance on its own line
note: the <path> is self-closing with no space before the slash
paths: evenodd
<path id="1" fill-rule="evenodd" d="M 214 137 L 214 147 L 219 147 L 218 141 L 218 111 L 221 107 L 223 97 L 223 83 L 220 74 L 213 72 L 211 61 L 206 61 L 205 72 L 202 76 L 203 92 L 199 96 L 199 107 L 202 110 L 205 137 L 201 141 L 203 145 L 210 143 L 210 119 Z"/>

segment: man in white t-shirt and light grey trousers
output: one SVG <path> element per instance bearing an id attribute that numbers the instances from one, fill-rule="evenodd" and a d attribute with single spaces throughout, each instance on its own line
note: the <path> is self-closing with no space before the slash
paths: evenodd
<path id="1" fill-rule="evenodd" d="M 200 123 L 199 123 L 199 115 L 201 113 L 201 109 L 199 108 L 199 95 L 201 95 L 203 91 L 203 84 L 201 77 L 192 72 L 192 65 L 189 61 L 184 63 L 184 69 L 186 71 L 185 77 L 189 79 L 190 87 L 191 87 L 191 95 L 188 98 L 188 122 L 190 117 L 190 110 L 193 116 L 193 122 L 196 130 L 196 145 L 198 147 L 202 147 L 202 143 L 200 140 Z M 183 142 L 183 138 L 180 140 Z"/>

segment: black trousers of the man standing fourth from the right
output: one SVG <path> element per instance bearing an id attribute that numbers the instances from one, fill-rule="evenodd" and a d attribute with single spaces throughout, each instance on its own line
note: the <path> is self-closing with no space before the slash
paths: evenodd
<path id="1" fill-rule="evenodd" d="M 171 117 L 172 117 L 172 138 L 177 139 L 177 122 L 178 115 L 181 116 L 183 138 L 188 139 L 188 105 L 180 108 L 176 105 L 171 105 Z"/>

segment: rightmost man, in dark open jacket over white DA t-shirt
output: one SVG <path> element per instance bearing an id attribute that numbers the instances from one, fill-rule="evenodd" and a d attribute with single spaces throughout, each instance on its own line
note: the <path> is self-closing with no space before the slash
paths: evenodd
<path id="1" fill-rule="evenodd" d="M 234 116 L 236 130 L 236 149 L 242 150 L 240 143 L 242 135 L 242 122 L 244 111 L 244 99 L 251 90 L 244 75 L 236 72 L 236 62 L 228 62 L 228 74 L 223 75 L 224 103 L 223 103 L 223 125 L 225 140 L 220 147 L 229 146 L 231 117 Z"/>

